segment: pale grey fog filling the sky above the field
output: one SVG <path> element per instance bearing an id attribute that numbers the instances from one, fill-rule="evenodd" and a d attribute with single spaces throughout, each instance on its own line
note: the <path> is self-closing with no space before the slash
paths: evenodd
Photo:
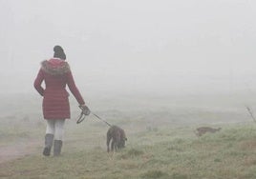
<path id="1" fill-rule="evenodd" d="M 0 0 L 0 93 L 60 45 L 83 95 L 256 89 L 253 0 Z"/>

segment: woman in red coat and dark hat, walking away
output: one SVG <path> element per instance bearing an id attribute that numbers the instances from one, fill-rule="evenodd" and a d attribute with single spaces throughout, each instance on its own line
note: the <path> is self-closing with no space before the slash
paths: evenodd
<path id="1" fill-rule="evenodd" d="M 90 113 L 90 109 L 85 105 L 83 97 L 75 86 L 72 71 L 65 61 L 64 50 L 60 46 L 55 46 L 53 51 L 53 58 L 41 63 L 41 69 L 33 83 L 34 88 L 43 96 L 43 115 L 47 121 L 43 150 L 45 156 L 51 154 L 52 147 L 53 156 L 58 156 L 61 152 L 65 119 L 71 117 L 66 85 L 75 96 L 79 108 L 83 109 L 84 113 Z M 43 81 L 45 89 L 41 86 Z"/>

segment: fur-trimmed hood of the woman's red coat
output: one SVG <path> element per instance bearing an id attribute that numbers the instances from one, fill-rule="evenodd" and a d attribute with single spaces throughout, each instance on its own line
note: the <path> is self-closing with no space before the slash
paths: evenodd
<path id="1" fill-rule="evenodd" d="M 58 58 L 44 60 L 41 63 L 41 69 L 52 75 L 62 75 L 70 71 L 68 62 Z"/>

